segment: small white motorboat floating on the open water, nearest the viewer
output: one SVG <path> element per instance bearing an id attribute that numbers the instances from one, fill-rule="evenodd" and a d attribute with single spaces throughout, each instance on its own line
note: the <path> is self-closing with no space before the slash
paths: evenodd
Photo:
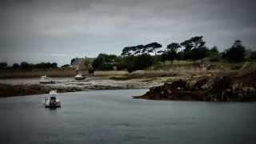
<path id="1" fill-rule="evenodd" d="M 50 90 L 49 96 L 45 98 L 43 105 L 46 108 L 56 109 L 61 107 L 61 101 L 57 99 L 57 91 Z"/>

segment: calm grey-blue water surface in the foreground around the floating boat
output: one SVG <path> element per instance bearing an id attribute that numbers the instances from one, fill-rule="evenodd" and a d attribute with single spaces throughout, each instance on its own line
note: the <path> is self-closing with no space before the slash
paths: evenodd
<path id="1" fill-rule="evenodd" d="M 256 143 L 256 103 L 132 99 L 146 90 L 0 98 L 0 143 Z"/>

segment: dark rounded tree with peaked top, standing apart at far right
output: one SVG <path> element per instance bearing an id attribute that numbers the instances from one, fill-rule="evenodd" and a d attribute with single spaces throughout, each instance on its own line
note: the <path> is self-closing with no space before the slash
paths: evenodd
<path id="1" fill-rule="evenodd" d="M 227 49 L 223 58 L 226 58 L 229 62 L 242 62 L 245 60 L 246 48 L 242 46 L 242 42 L 237 40 L 234 42 L 230 49 Z"/>

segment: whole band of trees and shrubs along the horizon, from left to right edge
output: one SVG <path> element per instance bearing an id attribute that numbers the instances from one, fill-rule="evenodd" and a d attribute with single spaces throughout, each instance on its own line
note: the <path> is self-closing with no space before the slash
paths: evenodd
<path id="1" fill-rule="evenodd" d="M 70 65 L 61 68 L 70 68 L 78 59 L 72 58 Z M 183 42 L 170 42 L 166 46 L 158 42 L 145 45 L 125 46 L 120 55 L 98 54 L 97 58 L 83 58 L 83 65 L 94 73 L 95 70 L 166 70 L 174 66 L 195 66 L 206 62 L 217 62 L 218 65 L 229 63 L 234 69 L 241 67 L 241 62 L 256 61 L 256 51 L 246 49 L 241 40 L 234 41 L 226 50 L 219 51 L 217 46 L 206 46 L 203 36 L 188 38 Z M 226 64 L 225 64 L 226 65 Z M 47 70 L 58 68 L 56 62 L 29 62 L 14 63 L 8 66 L 0 62 L 0 70 Z M 232 69 L 233 69 L 232 68 Z"/>

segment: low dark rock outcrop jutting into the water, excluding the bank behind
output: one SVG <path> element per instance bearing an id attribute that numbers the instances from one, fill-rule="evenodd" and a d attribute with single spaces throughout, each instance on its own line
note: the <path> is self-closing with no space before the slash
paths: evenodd
<path id="1" fill-rule="evenodd" d="M 134 98 L 154 100 L 192 100 L 207 102 L 251 102 L 256 101 L 255 87 L 239 83 L 230 76 L 200 77 L 165 83 L 155 86 Z"/>

